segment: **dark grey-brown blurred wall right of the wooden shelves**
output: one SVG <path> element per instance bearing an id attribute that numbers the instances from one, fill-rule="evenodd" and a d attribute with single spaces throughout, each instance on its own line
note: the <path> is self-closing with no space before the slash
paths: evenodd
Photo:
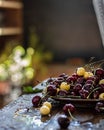
<path id="1" fill-rule="evenodd" d="M 36 27 L 44 46 L 54 52 L 55 62 L 73 57 L 104 58 L 92 0 L 24 0 L 24 40 Z"/>

